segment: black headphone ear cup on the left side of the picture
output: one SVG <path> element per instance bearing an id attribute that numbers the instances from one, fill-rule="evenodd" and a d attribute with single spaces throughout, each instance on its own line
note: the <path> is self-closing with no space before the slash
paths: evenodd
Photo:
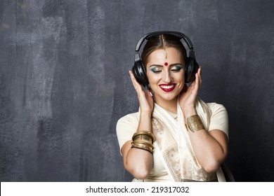
<path id="1" fill-rule="evenodd" d="M 148 76 L 146 75 L 145 66 L 141 59 L 134 62 L 132 72 L 139 84 L 143 85 L 143 87 L 149 86 Z"/>

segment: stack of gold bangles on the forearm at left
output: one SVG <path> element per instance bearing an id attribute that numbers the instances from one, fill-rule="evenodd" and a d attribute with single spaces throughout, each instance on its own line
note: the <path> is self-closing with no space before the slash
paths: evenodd
<path id="1" fill-rule="evenodd" d="M 153 142 L 155 137 L 152 132 L 148 131 L 137 131 L 133 134 L 131 148 L 139 148 L 150 153 L 153 152 Z"/>

